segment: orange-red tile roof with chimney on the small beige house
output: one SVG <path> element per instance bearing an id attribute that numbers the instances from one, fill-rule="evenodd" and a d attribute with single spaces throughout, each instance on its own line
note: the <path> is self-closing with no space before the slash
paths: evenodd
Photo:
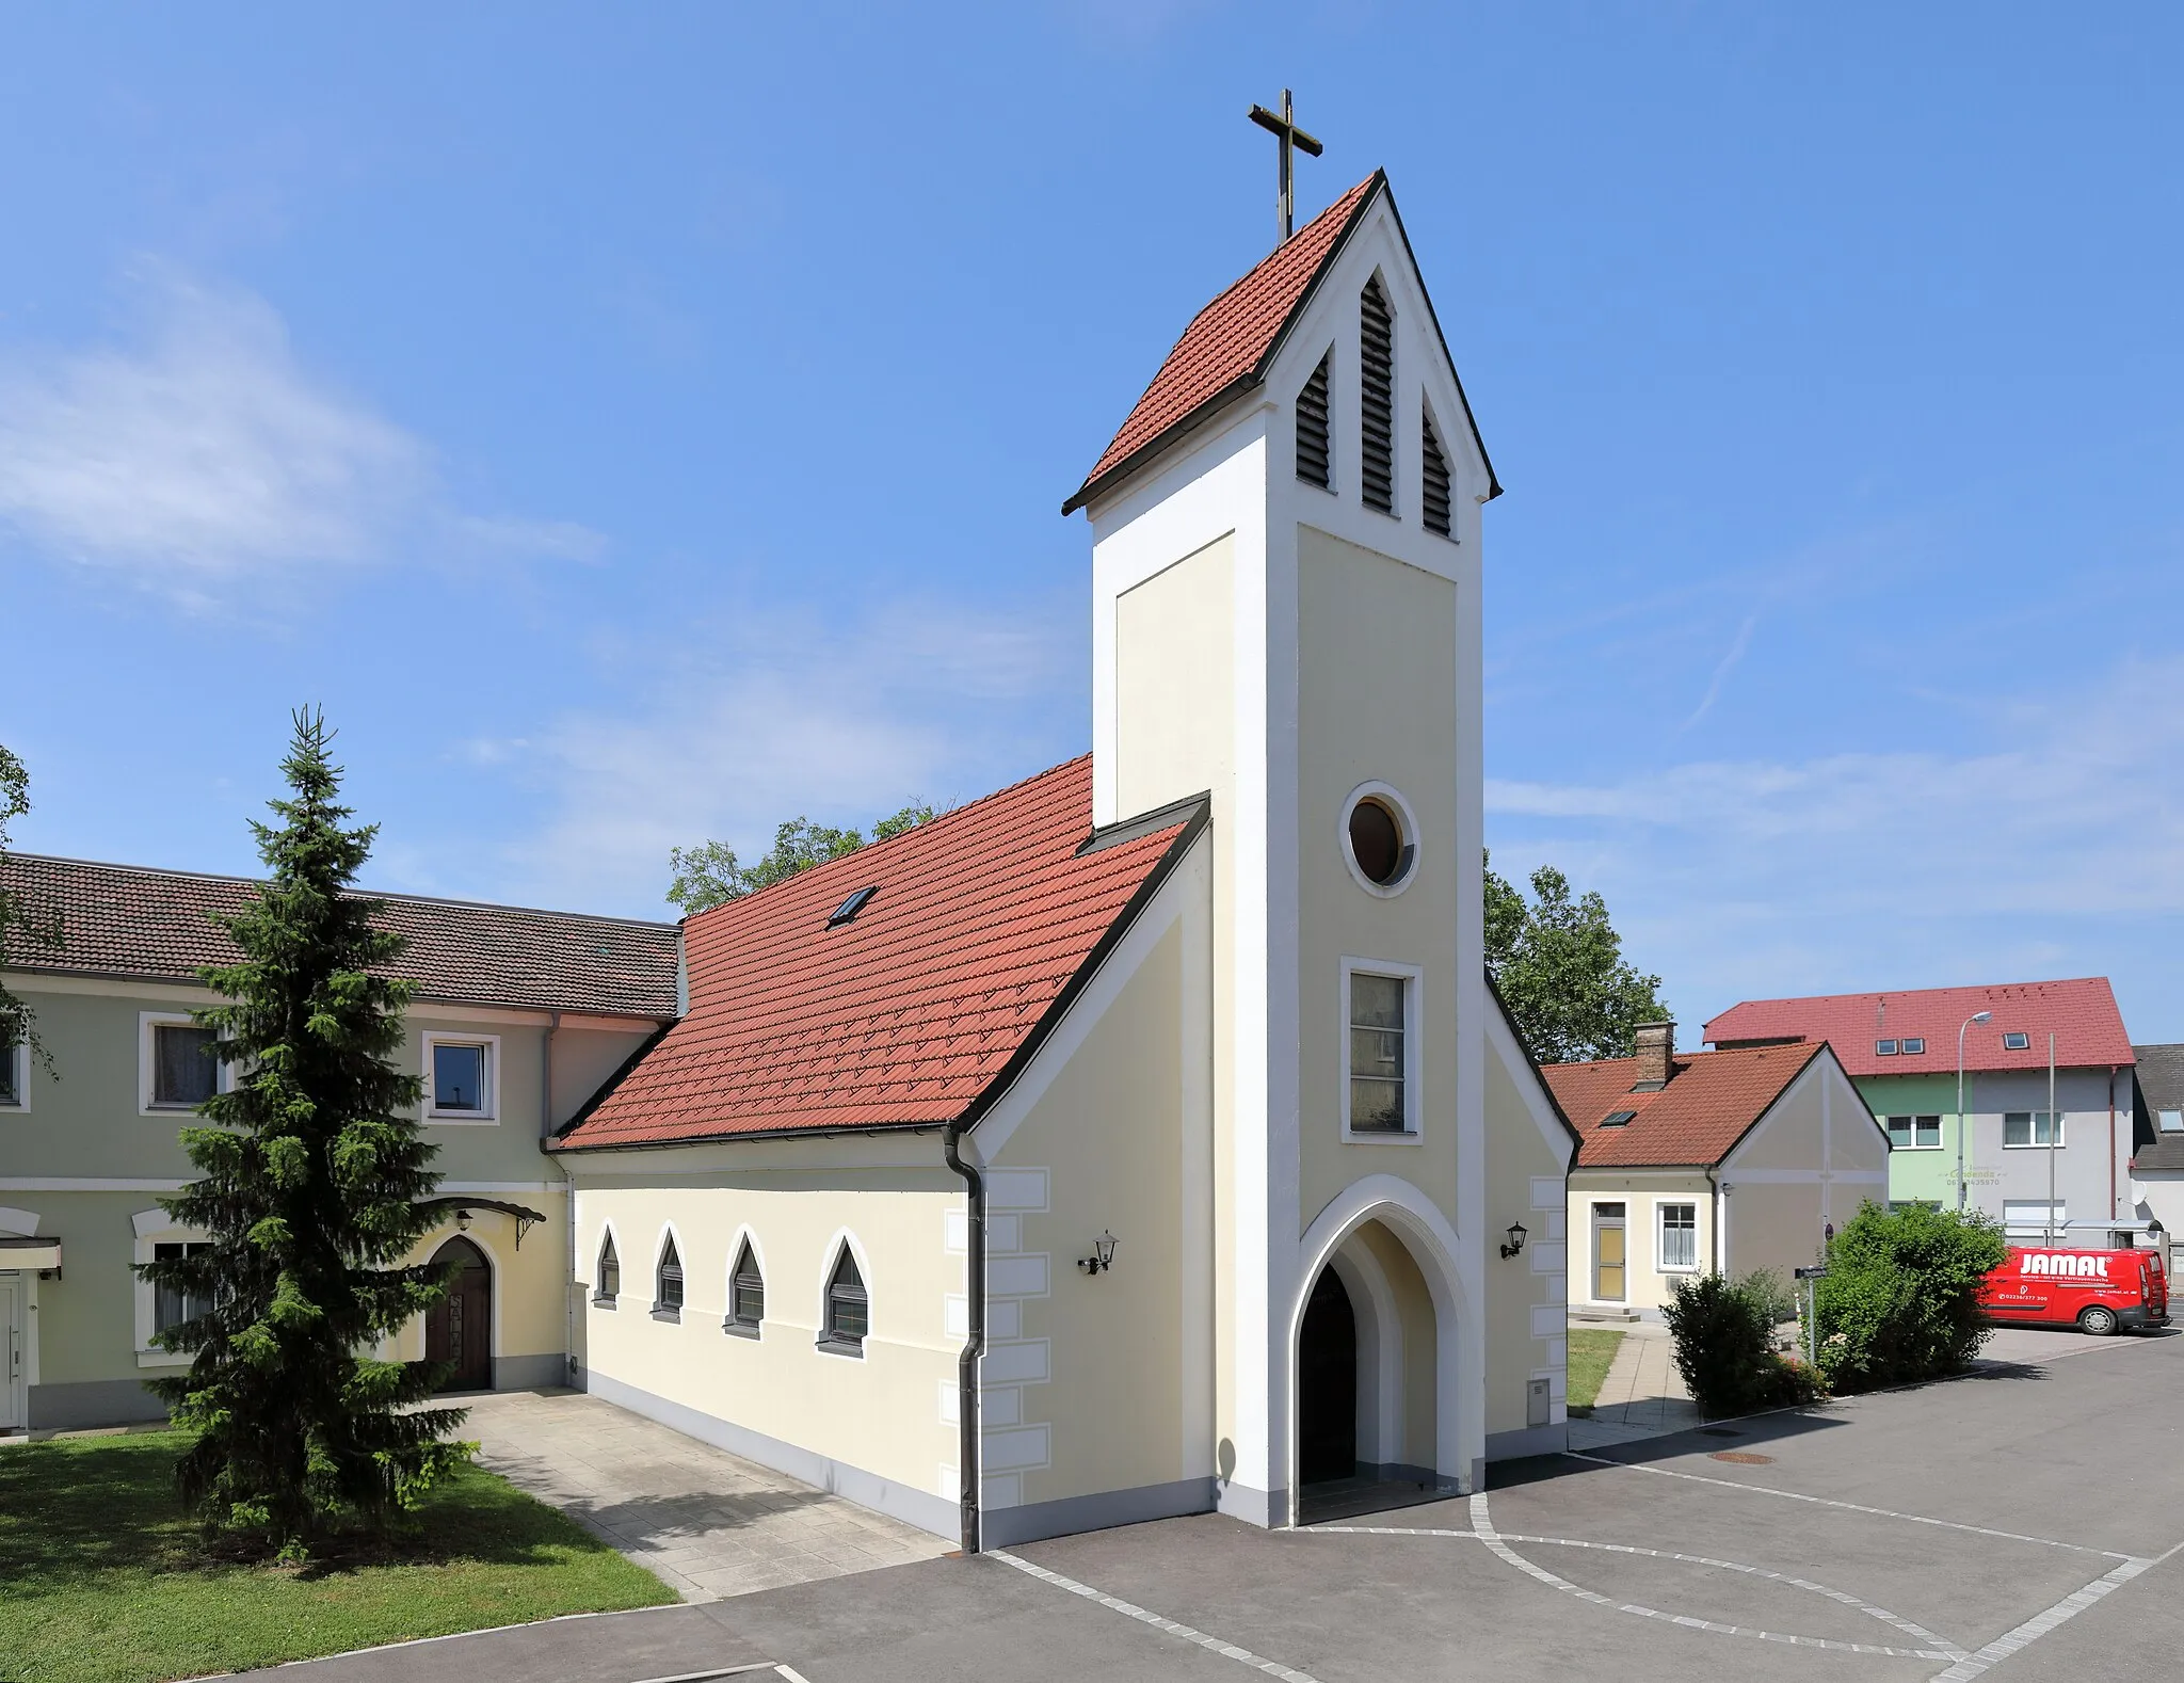
<path id="1" fill-rule="evenodd" d="M 1819 1046 L 1679 1052 L 1658 1094 L 1631 1091 L 1638 1059 L 1551 1063 L 1542 1074 L 1577 1126 L 1572 1168 L 1712 1168 L 1819 1052 Z M 1616 1111 L 1638 1115 L 1603 1129 Z"/>

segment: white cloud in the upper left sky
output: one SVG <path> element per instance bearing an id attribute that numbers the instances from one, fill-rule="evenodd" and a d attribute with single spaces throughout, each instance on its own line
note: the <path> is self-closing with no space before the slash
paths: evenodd
<path id="1" fill-rule="evenodd" d="M 131 279 L 138 343 L 0 362 L 20 544 L 181 598 L 417 548 L 596 554 L 577 526 L 452 513 L 432 452 L 314 378 L 264 299 L 151 262 Z"/>

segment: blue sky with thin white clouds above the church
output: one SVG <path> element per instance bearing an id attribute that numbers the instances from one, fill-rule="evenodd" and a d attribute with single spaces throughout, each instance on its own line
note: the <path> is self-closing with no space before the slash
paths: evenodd
<path id="1" fill-rule="evenodd" d="M 786 15 L 797 13 L 797 15 Z M 221 871 L 286 712 L 371 882 L 1088 742 L 1055 511 L 1387 166 L 1507 496 L 1489 840 L 1695 1024 L 2108 974 L 2184 1039 L 2184 15 L 2125 4 L 0 9 L 0 742 Z M 1690 1033 L 1690 1030 L 1686 1030 Z"/>

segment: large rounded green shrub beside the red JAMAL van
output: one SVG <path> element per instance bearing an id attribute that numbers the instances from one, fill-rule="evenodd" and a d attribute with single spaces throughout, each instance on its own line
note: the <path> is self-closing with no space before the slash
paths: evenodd
<path id="1" fill-rule="evenodd" d="M 2007 1257 L 1992 1216 L 1867 1203 L 1835 1236 L 1815 1290 L 1828 1386 L 1874 1390 L 1961 1373 L 1990 1332 L 1979 1281 Z"/>

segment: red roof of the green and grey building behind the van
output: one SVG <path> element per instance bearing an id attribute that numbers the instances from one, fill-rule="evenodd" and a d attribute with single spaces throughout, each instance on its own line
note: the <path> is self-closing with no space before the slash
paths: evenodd
<path id="1" fill-rule="evenodd" d="M 1972 1024 L 1963 1037 L 1966 1070 L 2046 1070 L 2046 1037 L 2055 1035 L 2055 1061 L 2079 1070 L 2129 1065 L 2132 1037 L 2105 976 L 2068 982 L 2003 982 L 1998 987 L 1922 987 L 1907 993 L 1824 993 L 1811 1000 L 1745 1000 L 1706 1024 L 1706 1039 L 1725 1041 L 1806 1039 L 1830 1041 L 1852 1076 L 1915 1076 L 1957 1070 L 1957 1030 L 1974 1011 L 1992 1011 L 1994 1022 Z M 2022 1033 L 2029 1046 L 2011 1052 L 2005 1033 Z M 1883 1057 L 1874 1041 L 1924 1039 L 1926 1050 Z"/>

